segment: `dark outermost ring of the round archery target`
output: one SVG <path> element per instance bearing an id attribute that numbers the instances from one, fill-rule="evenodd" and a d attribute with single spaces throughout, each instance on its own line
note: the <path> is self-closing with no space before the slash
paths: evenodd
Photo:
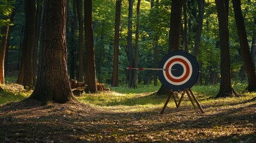
<path id="1" fill-rule="evenodd" d="M 196 80 L 198 80 L 198 75 L 199 75 L 198 61 L 196 60 L 196 58 L 193 55 L 191 55 L 191 54 L 189 54 L 188 52 L 185 52 L 185 51 L 169 52 L 158 63 L 158 68 L 159 69 L 164 69 L 165 62 L 174 55 L 181 55 L 183 57 L 186 57 L 187 60 L 190 61 L 191 65 L 192 65 L 192 75 L 191 75 L 190 79 L 187 80 L 187 82 L 183 83 L 182 85 L 173 85 L 165 79 L 164 73 L 163 73 L 162 70 L 158 70 L 158 78 L 159 78 L 160 82 L 164 86 L 166 86 L 166 88 L 171 89 L 172 91 L 184 91 L 186 89 L 190 89 L 196 83 Z"/>

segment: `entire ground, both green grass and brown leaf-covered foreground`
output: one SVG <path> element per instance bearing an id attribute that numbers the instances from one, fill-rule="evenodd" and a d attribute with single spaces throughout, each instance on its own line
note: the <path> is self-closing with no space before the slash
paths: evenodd
<path id="1" fill-rule="evenodd" d="M 161 115 L 167 96 L 154 94 L 159 86 L 110 88 L 76 97 L 86 104 L 39 106 L 35 101 L 2 105 L 23 100 L 32 92 L 4 85 L 0 142 L 255 142 L 256 102 L 246 101 L 256 93 L 245 92 L 242 83 L 233 86 L 242 96 L 216 99 L 212 97 L 219 85 L 193 86 L 204 114 L 193 110 L 185 95 L 180 108 L 171 98 Z"/>

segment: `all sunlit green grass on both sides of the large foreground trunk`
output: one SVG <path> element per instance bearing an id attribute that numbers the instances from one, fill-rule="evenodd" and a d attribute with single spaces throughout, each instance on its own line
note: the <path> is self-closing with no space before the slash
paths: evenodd
<path id="1" fill-rule="evenodd" d="M 13 77 L 9 77 L 8 81 L 16 80 Z M 24 100 L 24 98 L 29 97 L 32 91 L 21 91 L 15 92 L 8 90 L 0 93 L 0 105 L 7 104 L 8 102 L 16 102 Z M 241 97 L 229 97 L 229 98 L 219 98 L 215 99 L 218 93 L 219 85 L 204 85 L 204 86 L 193 86 L 192 91 L 195 94 L 196 98 L 198 98 L 199 102 L 204 105 L 232 105 L 239 104 L 242 101 L 249 100 L 256 96 L 255 93 L 245 92 L 246 83 L 236 83 L 233 84 L 233 87 L 236 89 Z M 151 85 L 140 85 L 138 88 L 131 89 L 127 87 L 118 87 L 111 88 L 110 92 L 101 92 L 99 94 L 83 94 L 81 97 L 76 97 L 79 101 L 96 105 L 104 108 L 112 108 L 113 106 L 123 107 L 134 107 L 135 108 L 159 108 L 165 103 L 167 95 L 162 95 L 160 97 L 155 95 L 155 92 L 158 91 L 159 86 L 151 86 Z M 191 105 L 191 102 L 188 100 L 187 96 L 184 96 L 184 100 L 181 103 L 183 105 Z M 172 98 L 169 101 L 169 107 L 175 107 L 174 102 L 172 102 Z M 143 109 L 142 109 L 143 110 Z"/>

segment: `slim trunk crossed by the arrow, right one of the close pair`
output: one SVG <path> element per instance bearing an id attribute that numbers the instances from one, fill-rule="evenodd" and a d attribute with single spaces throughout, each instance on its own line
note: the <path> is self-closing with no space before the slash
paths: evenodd
<path id="1" fill-rule="evenodd" d="M 140 0 L 137 1 L 137 8 L 136 8 L 136 31 L 135 31 L 135 49 L 134 49 L 134 67 L 138 67 L 138 38 L 139 38 L 139 31 L 140 31 Z M 137 87 L 137 70 L 134 70 L 133 73 L 133 85 Z"/>

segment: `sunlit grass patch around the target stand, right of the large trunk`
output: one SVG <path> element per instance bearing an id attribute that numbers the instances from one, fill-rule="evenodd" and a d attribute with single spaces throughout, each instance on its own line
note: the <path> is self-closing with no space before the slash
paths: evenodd
<path id="1" fill-rule="evenodd" d="M 256 93 L 245 92 L 246 84 L 233 85 L 240 97 L 214 98 L 218 94 L 219 85 L 193 86 L 192 92 L 202 107 L 226 107 L 229 105 L 243 104 L 256 96 Z M 141 86 L 140 88 L 112 88 L 110 92 L 100 94 L 83 94 L 78 100 L 87 104 L 100 106 L 103 108 L 114 108 L 115 111 L 139 112 L 162 108 L 167 95 L 156 96 L 159 86 Z M 178 97 L 181 96 L 181 93 Z M 168 107 L 175 108 L 174 100 L 168 103 Z M 193 107 L 187 95 L 181 102 L 180 108 Z"/>

